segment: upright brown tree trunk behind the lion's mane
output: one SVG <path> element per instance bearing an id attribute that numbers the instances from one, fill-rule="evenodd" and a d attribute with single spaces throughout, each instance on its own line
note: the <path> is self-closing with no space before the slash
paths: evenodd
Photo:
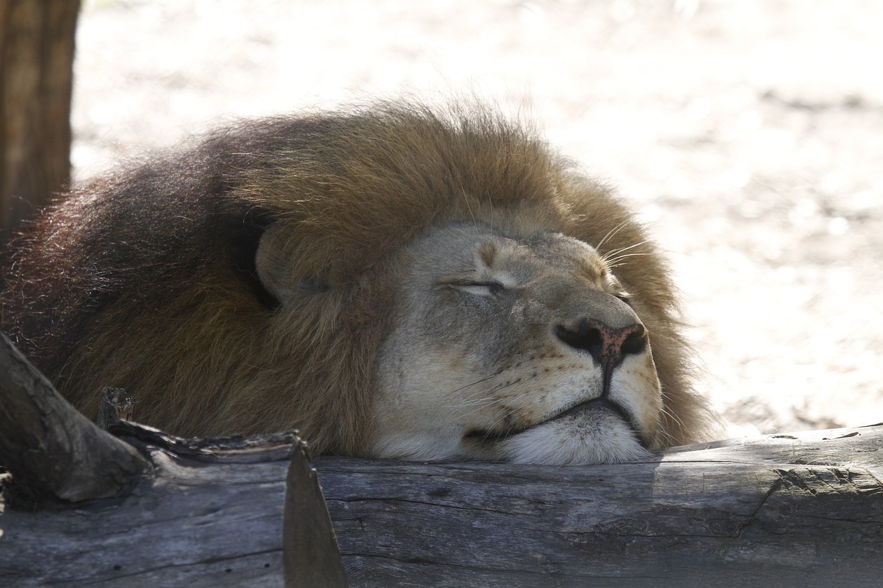
<path id="1" fill-rule="evenodd" d="M 0 239 L 71 176 L 79 0 L 0 3 Z"/>

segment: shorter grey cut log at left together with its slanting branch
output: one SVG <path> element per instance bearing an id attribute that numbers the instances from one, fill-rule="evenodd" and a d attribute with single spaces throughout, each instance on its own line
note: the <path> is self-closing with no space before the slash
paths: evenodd
<path id="1" fill-rule="evenodd" d="M 0 494 L 0 585 L 281 585 L 283 541 L 286 587 L 346 585 L 297 433 L 178 439 L 119 420 L 132 399 L 106 389 L 102 428 L 117 438 L 0 340 L 0 466 L 19 503 L 44 508 L 3 514 Z"/>

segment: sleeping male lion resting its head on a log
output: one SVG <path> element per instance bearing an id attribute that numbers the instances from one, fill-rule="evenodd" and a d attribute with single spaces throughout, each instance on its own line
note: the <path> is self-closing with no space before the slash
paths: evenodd
<path id="1" fill-rule="evenodd" d="M 415 103 L 231 124 L 73 190 L 3 325 L 80 411 L 183 436 L 595 464 L 702 439 L 671 272 L 530 125 Z"/>

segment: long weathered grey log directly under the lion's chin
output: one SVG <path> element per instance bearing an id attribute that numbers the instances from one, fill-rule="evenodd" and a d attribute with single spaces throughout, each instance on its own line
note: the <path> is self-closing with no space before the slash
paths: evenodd
<path id="1" fill-rule="evenodd" d="M 883 426 L 640 464 L 316 467 L 353 586 L 865 586 L 883 571 Z"/>

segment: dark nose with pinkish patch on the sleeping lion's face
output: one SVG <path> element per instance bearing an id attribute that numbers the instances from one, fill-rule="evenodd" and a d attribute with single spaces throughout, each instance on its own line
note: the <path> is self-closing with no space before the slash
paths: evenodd
<path id="1" fill-rule="evenodd" d="M 583 319 L 576 328 L 558 325 L 555 335 L 574 349 L 588 351 L 602 366 L 616 366 L 625 356 L 642 353 L 647 347 L 647 332 L 639 322 L 613 328 L 600 320 Z"/>

